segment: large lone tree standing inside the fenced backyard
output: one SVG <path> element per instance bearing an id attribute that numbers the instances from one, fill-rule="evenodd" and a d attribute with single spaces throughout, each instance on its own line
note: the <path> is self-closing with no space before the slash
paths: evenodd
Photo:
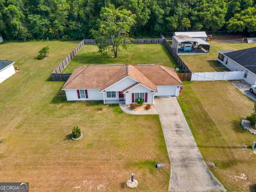
<path id="1" fill-rule="evenodd" d="M 132 42 L 129 33 L 135 25 L 135 15 L 131 11 L 115 9 L 110 4 L 109 7 L 101 9 L 97 23 L 98 30 L 92 30 L 92 35 L 100 53 L 106 54 L 110 51 L 117 57 L 121 47 L 126 50 Z"/>

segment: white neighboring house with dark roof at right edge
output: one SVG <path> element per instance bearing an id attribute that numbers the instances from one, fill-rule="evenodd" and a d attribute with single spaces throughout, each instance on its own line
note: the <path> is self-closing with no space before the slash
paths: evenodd
<path id="1" fill-rule="evenodd" d="M 238 51 L 219 51 L 218 59 L 231 71 L 244 71 L 244 81 L 256 84 L 256 47 Z"/>

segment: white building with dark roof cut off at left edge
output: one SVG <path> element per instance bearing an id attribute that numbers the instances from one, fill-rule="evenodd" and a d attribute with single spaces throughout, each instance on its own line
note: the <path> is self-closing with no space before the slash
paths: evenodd
<path id="1" fill-rule="evenodd" d="M 0 60 L 0 83 L 15 74 L 14 61 Z"/>

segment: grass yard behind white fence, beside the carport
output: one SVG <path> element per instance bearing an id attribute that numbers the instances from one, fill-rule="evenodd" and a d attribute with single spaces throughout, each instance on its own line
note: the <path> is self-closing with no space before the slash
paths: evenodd
<path id="1" fill-rule="evenodd" d="M 213 41 L 209 54 L 180 55 L 180 58 L 192 72 L 229 71 L 228 68 L 217 61 L 218 51 L 236 51 L 254 46 L 256 46 L 256 44 L 253 43 L 215 43 Z"/>

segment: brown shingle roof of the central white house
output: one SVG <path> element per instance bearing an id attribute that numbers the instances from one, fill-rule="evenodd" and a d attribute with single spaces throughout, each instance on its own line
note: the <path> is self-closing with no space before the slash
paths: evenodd
<path id="1" fill-rule="evenodd" d="M 100 89 L 103 91 L 125 77 L 137 81 L 125 90 L 138 84 L 142 84 L 155 92 L 157 85 L 182 85 L 178 75 L 169 67 L 158 65 L 91 65 L 76 68 L 62 89 Z"/>

